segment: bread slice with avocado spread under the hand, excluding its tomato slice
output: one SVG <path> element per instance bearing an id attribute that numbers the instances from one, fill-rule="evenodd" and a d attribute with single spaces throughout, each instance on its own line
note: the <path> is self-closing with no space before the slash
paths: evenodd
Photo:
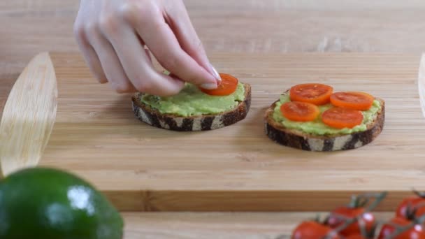
<path id="1" fill-rule="evenodd" d="M 182 99 L 179 100 L 175 100 L 179 96 L 167 98 L 136 93 L 132 97 L 134 115 L 142 122 L 161 129 L 208 131 L 236 124 L 245 119 L 250 110 L 251 86 L 249 84 L 238 82 L 236 92 L 232 93 L 236 94 L 235 96 L 232 94 L 210 96 L 201 91 L 203 90 L 187 83 L 185 89 L 180 92 Z M 147 97 L 159 99 L 159 103 L 146 103 L 149 101 L 143 99 Z M 232 101 L 234 102 L 232 103 Z M 202 103 L 205 103 L 206 106 L 203 106 Z M 223 103 L 230 104 L 231 108 L 227 106 L 226 110 L 217 111 Z M 193 108 L 196 107 L 199 108 L 199 112 L 194 113 Z"/>

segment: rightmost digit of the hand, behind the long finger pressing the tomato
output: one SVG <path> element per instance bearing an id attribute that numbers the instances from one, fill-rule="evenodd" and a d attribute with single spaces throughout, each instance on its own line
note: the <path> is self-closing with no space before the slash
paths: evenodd
<path id="1" fill-rule="evenodd" d="M 173 1 L 172 6 L 166 6 L 166 22 L 177 37 L 181 47 L 187 55 L 192 57 L 200 66 L 214 75 L 217 80 L 219 75 L 212 67 L 202 42 L 192 25 L 183 1 Z"/>

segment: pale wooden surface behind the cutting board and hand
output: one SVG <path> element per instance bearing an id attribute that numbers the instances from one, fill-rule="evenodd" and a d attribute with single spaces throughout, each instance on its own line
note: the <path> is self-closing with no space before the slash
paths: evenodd
<path id="1" fill-rule="evenodd" d="M 421 0 L 185 0 L 213 52 L 408 52 L 425 49 Z M 29 60 L 77 51 L 79 1 L 0 1 L 0 113 Z M 6 93 L 3 93 L 6 92 Z"/>

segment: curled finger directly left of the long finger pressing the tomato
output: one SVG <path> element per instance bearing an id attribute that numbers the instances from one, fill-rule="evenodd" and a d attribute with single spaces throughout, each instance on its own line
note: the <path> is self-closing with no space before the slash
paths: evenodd
<path id="1" fill-rule="evenodd" d="M 138 92 L 170 96 L 180 92 L 184 83 L 154 70 L 149 52 L 129 25 L 117 29 L 103 29 L 113 44 L 127 77 Z"/>

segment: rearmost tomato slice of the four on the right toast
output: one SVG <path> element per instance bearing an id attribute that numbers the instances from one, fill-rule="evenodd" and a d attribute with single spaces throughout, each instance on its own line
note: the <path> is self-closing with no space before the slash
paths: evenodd
<path id="1" fill-rule="evenodd" d="M 317 106 L 322 106 L 329 103 L 332 92 L 333 88 L 329 85 L 309 83 L 291 87 L 289 96 L 291 101 L 314 103 Z"/>

